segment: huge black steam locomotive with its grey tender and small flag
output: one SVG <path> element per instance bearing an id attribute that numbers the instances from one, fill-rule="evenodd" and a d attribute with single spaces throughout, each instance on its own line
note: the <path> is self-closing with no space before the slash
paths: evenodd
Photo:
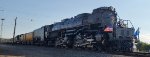
<path id="1" fill-rule="evenodd" d="M 126 20 L 117 19 L 113 7 L 100 7 L 92 13 L 82 13 L 36 29 L 30 42 L 55 47 L 132 52 L 134 27 L 128 27 L 124 23 Z M 16 41 L 21 44 L 24 44 L 21 41 L 28 42 L 19 38 Z"/>

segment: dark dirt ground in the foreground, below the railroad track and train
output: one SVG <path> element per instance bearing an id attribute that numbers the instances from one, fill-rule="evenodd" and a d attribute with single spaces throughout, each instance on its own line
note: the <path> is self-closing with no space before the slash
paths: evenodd
<path id="1" fill-rule="evenodd" d="M 132 57 L 100 52 L 39 47 L 27 45 L 0 44 L 0 57 Z"/>

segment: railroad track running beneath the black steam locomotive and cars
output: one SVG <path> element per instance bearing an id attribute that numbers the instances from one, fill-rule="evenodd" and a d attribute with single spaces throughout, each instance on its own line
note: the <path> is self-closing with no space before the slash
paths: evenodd
<path id="1" fill-rule="evenodd" d="M 5 45 L 5 46 L 17 46 L 17 47 L 29 47 L 28 49 L 32 49 L 32 48 L 35 48 L 35 49 L 41 49 L 43 48 L 44 50 L 46 49 L 49 49 L 49 48 L 46 48 L 46 47 L 39 47 L 39 46 L 31 46 L 31 45 Z M 12 48 L 14 49 L 14 48 Z M 24 50 L 26 48 L 22 48 L 21 50 Z M 27 50 L 28 50 L 27 49 Z M 89 49 L 70 49 L 70 48 L 51 48 L 53 51 L 56 49 L 57 51 L 58 50 L 67 50 L 69 52 L 87 52 L 87 53 L 93 53 L 93 54 L 113 54 L 113 55 L 125 55 L 125 56 L 133 56 L 133 57 L 150 57 L 150 53 L 141 53 L 141 52 L 98 52 L 98 51 L 94 51 L 94 50 L 89 50 Z M 44 51 L 43 51 L 44 52 Z"/>

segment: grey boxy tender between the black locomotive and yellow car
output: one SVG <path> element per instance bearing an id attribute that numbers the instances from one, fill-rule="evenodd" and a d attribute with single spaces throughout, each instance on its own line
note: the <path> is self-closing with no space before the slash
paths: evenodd
<path id="1" fill-rule="evenodd" d="M 34 45 L 53 45 L 54 39 L 51 36 L 53 25 L 45 25 L 33 31 L 33 44 Z M 53 35 L 54 36 L 54 35 Z"/>

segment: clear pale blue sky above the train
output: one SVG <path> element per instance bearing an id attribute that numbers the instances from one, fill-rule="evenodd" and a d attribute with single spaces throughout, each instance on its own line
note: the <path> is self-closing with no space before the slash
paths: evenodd
<path id="1" fill-rule="evenodd" d="M 0 18 L 5 18 L 3 37 L 12 37 L 16 16 L 16 34 L 22 34 L 102 6 L 116 8 L 122 19 L 141 28 L 141 41 L 150 43 L 150 0 L 0 0 L 0 10 L 4 10 Z"/>

